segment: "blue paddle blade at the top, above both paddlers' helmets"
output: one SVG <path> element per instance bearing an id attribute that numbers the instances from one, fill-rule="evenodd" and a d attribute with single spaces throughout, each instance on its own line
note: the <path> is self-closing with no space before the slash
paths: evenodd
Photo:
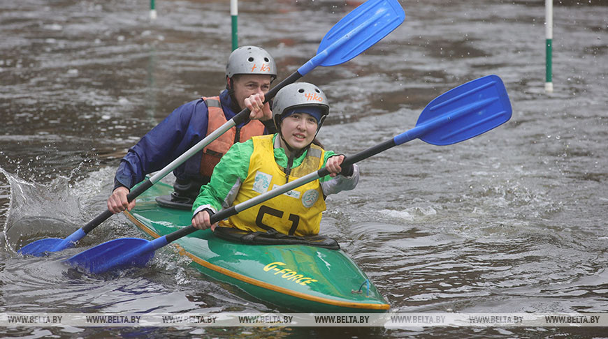
<path id="1" fill-rule="evenodd" d="M 382 40 L 405 20 L 398 0 L 368 0 L 335 24 L 321 40 L 317 54 L 328 50 L 321 66 L 353 59 Z M 334 50 L 335 48 L 335 50 Z"/>

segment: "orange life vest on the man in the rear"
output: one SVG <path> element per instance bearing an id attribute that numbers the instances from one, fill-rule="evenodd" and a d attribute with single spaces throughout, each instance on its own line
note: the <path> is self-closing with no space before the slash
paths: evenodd
<path id="1" fill-rule="evenodd" d="M 222 104 L 219 103 L 219 96 L 210 98 L 202 98 L 208 107 L 208 124 L 207 135 L 210 135 L 217 128 L 222 127 L 226 120 Z M 238 133 L 238 135 L 237 135 Z M 217 137 L 203 149 L 203 158 L 201 158 L 201 175 L 210 177 L 213 173 L 215 165 L 219 163 L 219 159 L 226 154 L 235 142 L 245 142 L 251 137 L 264 134 L 264 124 L 259 120 L 252 120 L 241 128 L 233 126 L 226 133 Z"/>

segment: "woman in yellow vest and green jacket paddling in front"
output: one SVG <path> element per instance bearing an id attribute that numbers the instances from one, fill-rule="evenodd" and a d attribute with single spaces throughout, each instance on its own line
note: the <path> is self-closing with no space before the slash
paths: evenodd
<path id="1" fill-rule="evenodd" d="M 254 106 L 261 108 L 259 103 Z M 201 187 L 192 206 L 192 225 L 207 229 L 212 226 L 210 213 L 245 202 L 325 166 L 331 173 L 329 176 L 219 222 L 223 227 L 253 232 L 275 229 L 295 236 L 318 234 L 325 197 L 352 190 L 359 181 L 357 165 L 342 168 L 340 164 L 345 157 L 325 151 L 316 140 L 328 112 L 325 94 L 313 84 L 298 82 L 281 89 L 272 110 L 278 133 L 253 137 L 231 147 L 215 167 L 211 181 Z"/>

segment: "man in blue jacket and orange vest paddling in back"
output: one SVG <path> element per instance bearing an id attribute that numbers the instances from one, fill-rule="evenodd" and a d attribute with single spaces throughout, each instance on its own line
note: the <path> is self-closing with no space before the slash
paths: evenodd
<path id="1" fill-rule="evenodd" d="M 201 185 L 209 182 L 219 158 L 232 144 L 275 131 L 268 104 L 266 110 L 260 108 L 263 94 L 276 77 L 277 66 L 266 50 L 255 46 L 234 50 L 226 64 L 226 90 L 219 96 L 203 97 L 178 107 L 129 149 L 117 169 L 108 210 L 119 213 L 133 209 L 135 199 L 129 203 L 126 195 L 146 174 L 163 169 L 245 107 L 249 108 L 250 121 L 234 126 L 173 170 L 174 191 L 171 197 L 164 197 L 166 203 L 190 209 Z"/>

